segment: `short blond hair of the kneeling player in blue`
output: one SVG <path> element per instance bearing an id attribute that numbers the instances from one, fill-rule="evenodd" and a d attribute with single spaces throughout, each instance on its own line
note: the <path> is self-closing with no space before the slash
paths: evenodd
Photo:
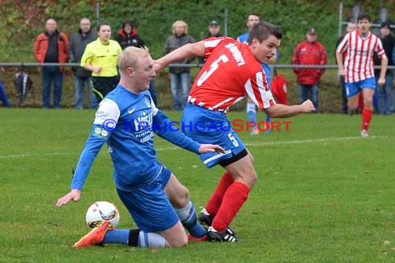
<path id="1" fill-rule="evenodd" d="M 146 46 L 142 48 L 136 48 L 134 46 L 129 46 L 122 51 L 118 56 L 118 67 L 121 75 L 126 72 L 126 69 L 132 68 L 135 69 L 138 64 L 139 57 L 148 57 L 150 55 L 150 51 Z"/>

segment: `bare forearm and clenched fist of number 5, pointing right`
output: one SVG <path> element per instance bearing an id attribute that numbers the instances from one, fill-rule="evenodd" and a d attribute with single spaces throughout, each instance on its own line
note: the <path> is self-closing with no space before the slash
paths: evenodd
<path id="1" fill-rule="evenodd" d="M 265 109 L 265 113 L 270 118 L 288 118 L 292 116 L 297 116 L 299 114 L 308 114 L 315 111 L 315 107 L 311 100 L 306 100 L 301 105 L 282 105 L 275 104 L 272 107 Z"/>

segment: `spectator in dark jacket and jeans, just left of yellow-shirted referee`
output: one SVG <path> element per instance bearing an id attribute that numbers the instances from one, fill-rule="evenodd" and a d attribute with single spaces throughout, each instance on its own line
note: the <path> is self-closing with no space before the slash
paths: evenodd
<path id="1" fill-rule="evenodd" d="M 70 38 L 69 56 L 70 63 L 81 63 L 82 54 L 87 44 L 94 42 L 97 34 L 91 29 L 91 21 L 87 18 L 80 20 L 80 29 Z M 89 89 L 89 109 L 96 109 L 98 102 L 92 87 L 91 72 L 82 68 L 82 66 L 73 66 L 74 87 L 76 88 L 76 109 L 84 107 L 84 88 L 85 84 Z"/>

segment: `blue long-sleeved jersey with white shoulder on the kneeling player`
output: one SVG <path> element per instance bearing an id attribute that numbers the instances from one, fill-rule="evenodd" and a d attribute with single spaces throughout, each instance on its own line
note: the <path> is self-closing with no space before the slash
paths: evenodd
<path id="1" fill-rule="evenodd" d="M 94 158 L 105 142 L 114 165 L 114 183 L 121 190 L 140 188 L 161 173 L 163 165 L 156 160 L 154 131 L 171 143 L 198 153 L 199 143 L 168 125 L 171 126 L 171 120 L 155 107 L 148 91 L 134 94 L 118 85 L 100 102 L 71 189 L 82 190 Z"/>

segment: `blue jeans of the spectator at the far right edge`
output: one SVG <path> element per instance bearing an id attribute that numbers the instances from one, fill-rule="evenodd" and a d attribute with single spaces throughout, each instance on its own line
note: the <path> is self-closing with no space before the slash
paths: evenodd
<path id="1" fill-rule="evenodd" d="M 378 113 L 390 115 L 394 112 L 394 71 L 387 69 L 385 84 L 383 87 L 377 85 Z"/>

